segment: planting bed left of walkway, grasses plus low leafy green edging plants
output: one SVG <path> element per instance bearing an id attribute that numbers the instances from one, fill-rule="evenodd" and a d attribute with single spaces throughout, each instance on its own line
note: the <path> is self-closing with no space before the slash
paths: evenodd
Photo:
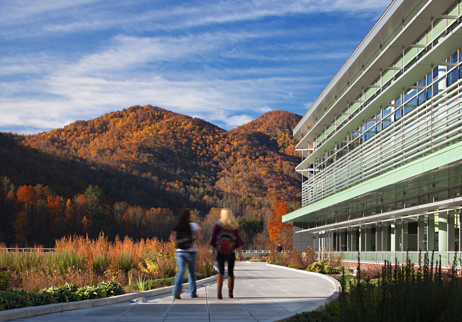
<path id="1" fill-rule="evenodd" d="M 198 248 L 196 280 L 216 273 L 209 246 Z M 0 249 L 0 310 L 170 286 L 175 274 L 174 243 L 155 238 L 110 242 L 104 235 L 97 240 L 77 236 L 56 241 L 53 252 Z M 183 282 L 187 280 L 185 275 Z"/>

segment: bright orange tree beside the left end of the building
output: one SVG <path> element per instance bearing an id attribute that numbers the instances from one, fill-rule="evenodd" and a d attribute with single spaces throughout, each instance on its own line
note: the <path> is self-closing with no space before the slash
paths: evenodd
<path id="1" fill-rule="evenodd" d="M 292 245 L 292 225 L 282 223 L 282 215 L 289 212 L 289 208 L 284 200 L 279 200 L 273 205 L 273 212 L 271 213 L 272 219 L 267 223 L 269 239 L 274 243 L 284 243 L 285 248 Z"/>

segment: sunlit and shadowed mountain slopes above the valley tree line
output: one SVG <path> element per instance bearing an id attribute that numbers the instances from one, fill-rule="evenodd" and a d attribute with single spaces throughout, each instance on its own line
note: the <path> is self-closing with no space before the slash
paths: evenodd
<path id="1" fill-rule="evenodd" d="M 225 131 L 151 105 L 132 106 L 36 135 L 0 134 L 0 176 L 16 188 L 48 186 L 63 200 L 97 185 L 106 217 L 118 201 L 175 213 L 188 207 L 201 217 L 223 206 L 237 215 L 267 213 L 277 200 L 295 207 L 300 199 L 291 131 L 300 118 L 271 111 Z"/>

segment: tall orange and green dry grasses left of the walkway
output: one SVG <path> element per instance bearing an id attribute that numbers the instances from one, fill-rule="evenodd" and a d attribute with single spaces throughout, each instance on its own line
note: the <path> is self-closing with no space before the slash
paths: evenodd
<path id="1" fill-rule="evenodd" d="M 0 244 L 0 248 L 5 248 Z M 65 282 L 94 285 L 102 280 L 114 280 L 128 285 L 129 277 L 145 275 L 140 265 L 150 259 L 156 269 L 147 278 L 159 279 L 176 273 L 175 245 L 156 238 L 134 242 L 125 237 L 108 241 L 103 234 L 97 239 L 82 236 L 61 238 L 54 252 L 43 252 L 36 246 L 30 252 L 14 253 L 0 249 L 0 267 L 11 271 L 10 287 L 38 291 Z M 209 245 L 198 244 L 196 272 L 213 275 Z"/>

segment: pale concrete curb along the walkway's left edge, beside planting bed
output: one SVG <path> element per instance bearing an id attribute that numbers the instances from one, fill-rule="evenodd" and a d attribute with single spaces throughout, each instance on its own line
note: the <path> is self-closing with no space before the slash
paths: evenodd
<path id="1" fill-rule="evenodd" d="M 199 279 L 196 281 L 196 286 L 213 282 L 216 279 L 217 279 L 217 275 L 210 276 L 205 279 Z M 182 290 L 187 289 L 188 283 L 183 283 L 181 285 L 181 288 Z M 131 301 L 134 298 L 138 298 L 138 297 L 152 297 L 156 295 L 171 293 L 172 291 L 173 291 L 173 286 L 165 286 L 165 287 L 160 287 L 158 289 L 153 289 L 149 291 L 128 293 L 128 294 L 116 295 L 116 296 L 111 296 L 111 297 L 106 297 L 106 298 L 97 298 L 94 300 L 85 300 L 85 301 L 76 301 L 76 302 L 67 302 L 67 303 L 55 303 L 55 304 L 32 306 L 28 308 L 0 311 L 0 321 L 19 319 L 21 317 L 37 316 L 37 315 L 42 315 L 42 314 L 56 313 L 56 312 L 68 311 L 68 310 L 91 308 L 93 306 L 116 304 L 116 303 Z"/>

